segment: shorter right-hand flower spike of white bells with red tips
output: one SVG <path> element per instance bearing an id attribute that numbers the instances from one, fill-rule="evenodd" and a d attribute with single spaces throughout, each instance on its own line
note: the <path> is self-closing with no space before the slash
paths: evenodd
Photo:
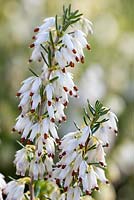
<path id="1" fill-rule="evenodd" d="M 99 190 L 98 180 L 108 183 L 104 172 L 106 167 L 104 148 L 108 147 L 107 134 L 110 131 L 117 132 L 117 125 L 114 113 L 104 107 L 102 110 L 106 113 L 103 114 L 103 121 L 99 122 L 98 119 L 101 120 L 99 117 L 95 122 L 94 115 L 94 118 L 90 119 L 90 125 L 68 133 L 59 145 L 60 161 L 56 165 L 53 177 L 56 183 L 64 188 L 68 200 L 77 200 L 83 193 L 91 195 L 93 190 Z M 99 112 L 101 115 L 101 111 Z M 102 127 L 99 127 L 94 132 L 93 123 L 94 125 L 101 123 L 100 126 L 105 131 L 102 132 Z"/>

